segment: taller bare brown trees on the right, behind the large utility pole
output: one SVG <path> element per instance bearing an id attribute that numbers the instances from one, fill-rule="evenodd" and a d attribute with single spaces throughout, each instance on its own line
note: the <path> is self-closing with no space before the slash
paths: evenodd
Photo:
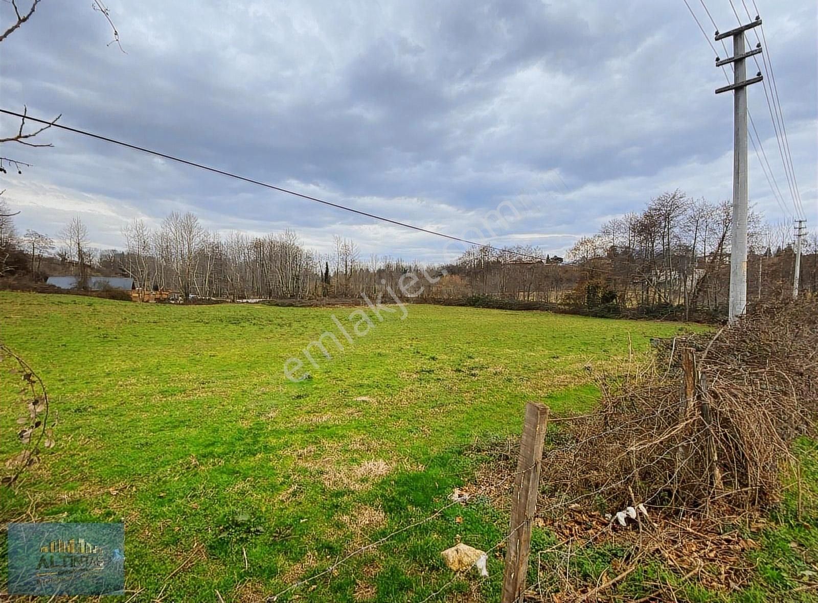
<path id="1" fill-rule="evenodd" d="M 730 203 L 691 199 L 680 190 L 651 199 L 642 212 L 607 221 L 571 248 L 569 258 L 585 271 L 578 293 L 593 285 L 622 306 L 684 306 L 717 310 L 729 291 Z M 750 212 L 748 297 L 783 293 L 792 284 L 793 227 L 770 225 Z M 816 290 L 816 241 L 802 279 Z"/>

